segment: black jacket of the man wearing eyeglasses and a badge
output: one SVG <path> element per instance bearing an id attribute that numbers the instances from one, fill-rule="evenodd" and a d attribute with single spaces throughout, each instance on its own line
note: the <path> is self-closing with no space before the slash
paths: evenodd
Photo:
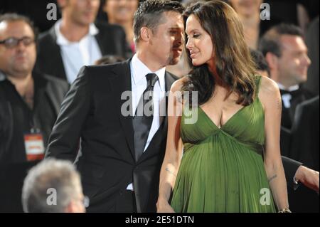
<path id="1" fill-rule="evenodd" d="M 46 146 L 69 85 L 64 80 L 36 72 L 33 72 L 33 78 L 37 90 L 33 116 L 38 120 Z M 18 103 L 13 103 L 8 98 L 11 86 L 14 85 L 9 81 L 0 82 L 0 212 L 23 212 L 21 204 L 23 179 L 28 169 L 38 161 L 26 161 L 23 133 L 15 129 L 19 122 L 28 121 L 29 118 L 23 116 L 22 119 L 16 120 L 14 117 L 23 115 L 23 112 L 17 111 L 15 105 Z"/>

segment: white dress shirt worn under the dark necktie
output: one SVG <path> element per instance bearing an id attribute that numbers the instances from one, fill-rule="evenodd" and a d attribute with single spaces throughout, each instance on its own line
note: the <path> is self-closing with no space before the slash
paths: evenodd
<path id="1" fill-rule="evenodd" d="M 146 146 L 144 147 L 144 152 L 145 152 L 146 148 L 149 146 L 149 143 L 151 142 L 151 139 L 154 137 L 154 134 L 156 134 L 156 131 L 159 129 L 162 121 L 164 120 L 164 115 L 162 113 L 165 112 L 165 110 L 162 108 L 166 108 L 165 107 L 165 103 L 166 103 L 166 84 L 165 83 L 166 82 L 164 78 L 164 75 L 166 73 L 166 68 L 161 68 L 156 72 L 152 72 L 151 70 L 149 70 L 149 68 L 146 65 L 144 65 L 144 63 L 142 63 L 141 60 L 139 60 L 139 58 L 137 57 L 137 54 L 135 54 L 132 57 L 132 60 L 130 62 L 130 71 L 131 71 L 131 83 L 132 83 L 133 112 L 136 112 L 139 100 L 142 97 L 144 90 L 146 90 L 146 85 L 147 85 L 146 74 L 156 73 L 156 75 L 159 78 L 159 80 L 156 81 L 156 84 L 154 85 L 154 96 L 153 96 L 154 119 L 152 121 L 148 139 L 146 140 Z M 129 184 L 127 189 L 133 191 L 132 184 Z"/>

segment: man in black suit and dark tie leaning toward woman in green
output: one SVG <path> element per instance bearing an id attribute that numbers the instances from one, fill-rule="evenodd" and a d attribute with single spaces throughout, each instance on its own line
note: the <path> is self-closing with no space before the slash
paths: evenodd
<path id="1" fill-rule="evenodd" d="M 134 15 L 133 58 L 82 68 L 65 97 L 46 157 L 76 159 L 89 212 L 156 211 L 165 93 L 176 80 L 165 67 L 181 56 L 182 11 L 176 1 L 144 1 Z"/>

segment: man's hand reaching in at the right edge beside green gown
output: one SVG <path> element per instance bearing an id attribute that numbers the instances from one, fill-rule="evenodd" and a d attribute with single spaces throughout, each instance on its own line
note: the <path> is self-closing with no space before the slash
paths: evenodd
<path id="1" fill-rule="evenodd" d="M 319 171 L 314 171 L 304 166 L 300 166 L 294 177 L 304 186 L 316 191 L 319 194 Z"/>

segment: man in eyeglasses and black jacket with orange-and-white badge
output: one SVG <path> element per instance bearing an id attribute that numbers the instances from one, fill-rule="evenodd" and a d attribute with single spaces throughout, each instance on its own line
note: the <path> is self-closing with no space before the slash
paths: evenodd
<path id="1" fill-rule="evenodd" d="M 65 81 L 33 72 L 35 36 L 28 18 L 17 14 L 0 16 L 0 172 L 6 177 L 13 174 L 6 172 L 6 167 L 43 158 L 60 103 L 68 91 Z M 1 181 L 4 179 L 0 176 Z M 16 187 L 18 183 L 7 186 L 7 193 L 16 191 Z M 0 211 L 6 204 L 3 197 L 10 198 L 4 188 L 0 189 Z M 6 206 L 6 211 L 17 211 L 16 204 L 8 204 L 12 210 Z"/>

